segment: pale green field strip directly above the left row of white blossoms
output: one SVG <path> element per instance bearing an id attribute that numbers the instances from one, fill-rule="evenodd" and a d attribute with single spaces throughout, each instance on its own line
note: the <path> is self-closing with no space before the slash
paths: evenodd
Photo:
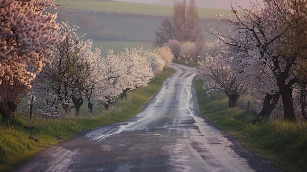
<path id="1" fill-rule="evenodd" d="M 116 52 L 120 52 L 123 48 L 144 47 L 144 49 L 153 49 L 153 42 L 151 41 L 95 41 L 93 48 L 102 48 L 102 56 L 107 55 L 108 49 L 113 49 Z"/>

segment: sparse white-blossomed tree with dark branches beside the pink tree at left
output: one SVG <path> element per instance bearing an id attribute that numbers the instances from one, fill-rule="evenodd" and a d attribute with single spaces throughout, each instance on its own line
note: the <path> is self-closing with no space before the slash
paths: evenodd
<path id="1" fill-rule="evenodd" d="M 93 74 L 100 73 L 100 50 L 92 52 L 93 40 L 83 41 L 75 33 L 76 30 L 77 26 L 71 27 L 63 22 L 55 31 L 55 34 L 63 35 L 65 39 L 51 48 L 55 58 L 39 78 L 45 89 L 56 95 L 66 114 L 76 108 L 78 115 L 83 104 L 82 91 L 99 81 Z M 71 106 L 71 103 L 74 105 Z"/>

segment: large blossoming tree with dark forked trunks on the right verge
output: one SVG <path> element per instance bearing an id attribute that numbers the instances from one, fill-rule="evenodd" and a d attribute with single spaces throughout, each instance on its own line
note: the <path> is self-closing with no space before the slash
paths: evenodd
<path id="1" fill-rule="evenodd" d="M 220 18 L 230 25 L 230 31 L 220 34 L 211 30 L 230 47 L 234 57 L 232 68 L 238 74 L 249 74 L 250 80 L 259 81 L 256 93 L 263 99 L 260 112 L 263 117 L 270 116 L 281 97 L 284 119 L 296 121 L 293 87 L 300 81 L 296 67 L 301 60 L 287 43 L 289 38 L 298 36 L 297 32 L 285 25 L 296 11 L 291 8 L 294 3 L 293 0 L 266 0 L 264 8 L 258 4 L 250 9 L 233 7 L 235 20 L 223 15 Z"/>

